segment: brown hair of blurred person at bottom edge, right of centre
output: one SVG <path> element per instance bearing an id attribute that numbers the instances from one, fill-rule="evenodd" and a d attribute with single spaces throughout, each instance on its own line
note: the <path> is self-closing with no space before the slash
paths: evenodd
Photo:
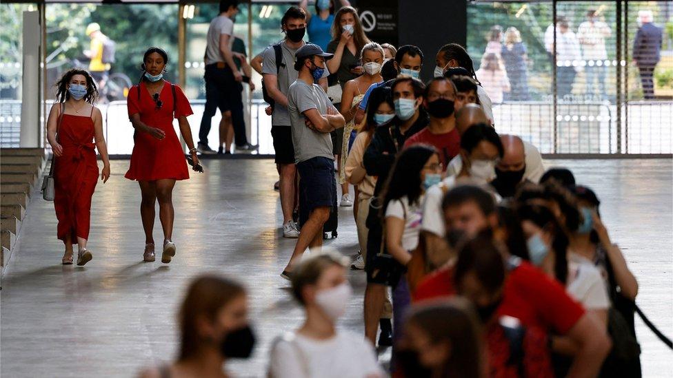
<path id="1" fill-rule="evenodd" d="M 413 306 L 405 324 L 423 330 L 432 344 L 450 345 L 441 377 L 483 377 L 481 325 L 470 302 L 454 297 Z"/>

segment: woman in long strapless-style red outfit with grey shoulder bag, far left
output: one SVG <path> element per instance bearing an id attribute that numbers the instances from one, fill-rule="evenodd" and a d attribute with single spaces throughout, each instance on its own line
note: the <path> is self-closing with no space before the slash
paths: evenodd
<path id="1" fill-rule="evenodd" d="M 84 70 L 70 70 L 57 83 L 57 98 L 47 120 L 47 140 L 54 152 L 54 208 L 57 235 L 66 244 L 63 264 L 72 264 L 72 244 L 79 246 L 77 265 L 92 259 L 89 238 L 91 197 L 98 181 L 97 148 L 103 159 L 103 182 L 110 178 L 110 160 L 103 136 L 103 116 L 92 105 L 98 90 Z M 95 144 L 94 144 L 95 140 Z"/>

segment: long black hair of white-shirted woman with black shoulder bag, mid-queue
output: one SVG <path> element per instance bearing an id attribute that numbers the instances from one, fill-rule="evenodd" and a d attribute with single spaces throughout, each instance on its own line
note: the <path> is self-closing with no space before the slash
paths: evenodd
<path id="1" fill-rule="evenodd" d="M 437 150 L 430 145 L 412 145 L 401 151 L 390 169 L 388 179 L 385 180 L 382 211 L 385 211 L 390 201 L 404 196 L 409 204 L 418 204 L 423 185 L 421 171 L 430 156 L 435 154 Z"/>

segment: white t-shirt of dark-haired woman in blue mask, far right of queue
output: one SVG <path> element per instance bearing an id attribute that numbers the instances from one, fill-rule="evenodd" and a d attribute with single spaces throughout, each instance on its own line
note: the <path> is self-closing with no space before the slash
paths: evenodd
<path id="1" fill-rule="evenodd" d="M 570 253 L 565 290 L 587 310 L 607 310 L 610 298 L 599 270 L 589 260 Z"/>

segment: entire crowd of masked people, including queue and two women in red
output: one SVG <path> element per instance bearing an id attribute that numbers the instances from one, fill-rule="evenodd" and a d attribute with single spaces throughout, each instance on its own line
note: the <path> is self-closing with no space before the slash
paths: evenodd
<path id="1" fill-rule="evenodd" d="M 378 344 L 392 346 L 393 377 L 638 377 L 638 283 L 601 220 L 598 196 L 567 169 L 545 171 L 536 147 L 494 125 L 488 83 L 521 88 L 525 78 L 488 73 L 510 47 L 490 44 L 496 63 L 475 71 L 463 46 L 445 45 L 435 55 L 435 77 L 423 83 L 421 49 L 370 41 L 348 1 L 319 0 L 315 10 L 310 15 L 305 1 L 288 8 L 283 41 L 251 63 L 270 100 L 283 236 L 297 238 L 281 276 L 305 311 L 300 328 L 274 339 L 268 376 L 384 377 Z M 222 85 L 241 81 L 228 50 L 237 1 L 222 0 L 220 11 L 208 34 L 221 48 L 209 45 L 205 54 L 210 113 L 228 103 L 222 96 L 238 96 Z M 304 41 L 307 31 L 315 43 Z M 516 31 L 508 32 L 507 44 L 516 44 Z M 161 260 L 169 263 L 177 251 L 171 192 L 189 177 L 173 118 L 190 148 L 188 162 L 201 167 L 189 101 L 163 78 L 166 64 L 168 54 L 150 48 L 141 82 L 130 90 L 135 147 L 126 178 L 141 188 L 143 260 L 154 261 L 158 200 Z M 88 72 L 68 72 L 48 120 L 63 264 L 72 264 L 72 244 L 79 244 L 78 264 L 92 259 L 93 138 L 103 181 L 110 176 L 95 96 Z M 220 109 L 231 112 L 242 139 L 239 110 Z M 355 188 L 354 261 L 321 251 L 339 205 L 337 180 Z M 306 249 L 312 253 L 303 258 Z M 366 275 L 364 335 L 337 327 L 352 297 L 349 266 Z M 254 347 L 238 282 L 195 279 L 179 322 L 177 359 L 143 377 L 221 376 L 228 359 L 249 357 Z"/>

